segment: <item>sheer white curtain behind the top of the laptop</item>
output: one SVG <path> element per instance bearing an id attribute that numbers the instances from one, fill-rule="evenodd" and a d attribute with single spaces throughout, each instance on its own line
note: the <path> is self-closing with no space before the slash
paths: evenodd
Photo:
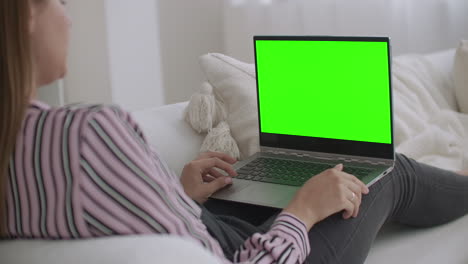
<path id="1" fill-rule="evenodd" d="M 252 36 L 390 36 L 394 55 L 454 48 L 468 37 L 467 0 L 225 0 L 227 54 L 253 61 Z"/>

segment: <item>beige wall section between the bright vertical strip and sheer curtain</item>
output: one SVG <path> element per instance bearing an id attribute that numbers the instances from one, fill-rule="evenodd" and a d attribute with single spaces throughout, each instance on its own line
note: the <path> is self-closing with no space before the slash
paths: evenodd
<path id="1" fill-rule="evenodd" d="M 223 52 L 223 0 L 157 0 L 166 103 L 188 100 L 205 80 L 198 57 Z"/>

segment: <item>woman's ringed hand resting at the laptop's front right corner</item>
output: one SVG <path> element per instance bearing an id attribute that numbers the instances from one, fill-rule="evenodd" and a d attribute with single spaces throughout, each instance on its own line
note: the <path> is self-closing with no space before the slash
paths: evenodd
<path id="1" fill-rule="evenodd" d="M 363 182 L 343 172 L 343 165 L 338 164 L 309 179 L 284 211 L 297 216 L 310 229 L 342 210 L 344 219 L 356 217 L 362 194 L 368 193 L 369 189 Z"/>

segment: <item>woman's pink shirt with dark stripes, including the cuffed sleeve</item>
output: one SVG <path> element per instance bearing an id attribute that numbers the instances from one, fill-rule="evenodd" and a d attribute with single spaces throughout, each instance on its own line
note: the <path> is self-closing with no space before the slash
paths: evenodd
<path id="1" fill-rule="evenodd" d="M 7 216 L 12 239 L 172 234 L 228 263 L 201 209 L 117 106 L 32 101 L 10 159 Z M 247 239 L 234 261 L 301 263 L 309 251 L 305 225 L 282 213 L 270 231 Z"/>

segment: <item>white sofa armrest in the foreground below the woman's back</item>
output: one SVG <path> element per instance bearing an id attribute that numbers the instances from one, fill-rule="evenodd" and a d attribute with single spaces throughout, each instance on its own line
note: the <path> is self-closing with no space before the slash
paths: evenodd
<path id="1" fill-rule="evenodd" d="M 191 240 L 149 235 L 87 240 L 0 242 L 1 263 L 9 264 L 150 264 L 207 263 L 220 260 Z"/>

